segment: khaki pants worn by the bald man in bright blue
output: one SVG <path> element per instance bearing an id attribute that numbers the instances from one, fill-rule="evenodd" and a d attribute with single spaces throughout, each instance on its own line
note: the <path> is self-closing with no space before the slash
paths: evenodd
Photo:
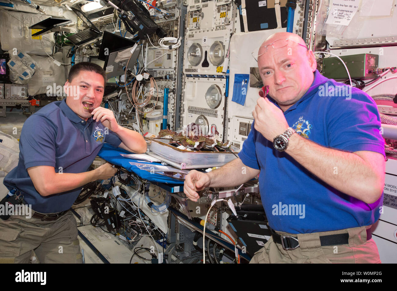
<path id="1" fill-rule="evenodd" d="M 311 234 L 288 234 L 276 231 L 280 235 L 298 238 L 300 247 L 285 251 L 281 244 L 270 238 L 264 247 L 252 257 L 251 263 L 380 263 L 378 247 L 374 240 L 367 241 L 366 228 L 362 226 L 329 232 Z M 321 246 L 320 236 L 349 233 L 349 244 Z"/>

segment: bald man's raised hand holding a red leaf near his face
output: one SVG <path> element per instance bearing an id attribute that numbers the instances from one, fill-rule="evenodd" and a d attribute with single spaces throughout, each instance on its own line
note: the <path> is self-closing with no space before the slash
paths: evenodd
<path id="1" fill-rule="evenodd" d="M 260 97 L 256 103 L 255 109 L 252 111 L 255 121 L 254 128 L 262 133 L 268 141 L 273 142 L 276 136 L 284 133 L 288 128 L 284 113 L 268 98 Z"/>

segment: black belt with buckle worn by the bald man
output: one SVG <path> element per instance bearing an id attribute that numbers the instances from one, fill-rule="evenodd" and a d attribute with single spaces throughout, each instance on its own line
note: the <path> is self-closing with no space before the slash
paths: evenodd
<path id="1" fill-rule="evenodd" d="M 270 227 L 269 227 L 270 228 Z M 298 238 L 294 236 L 282 236 L 278 234 L 274 229 L 270 228 L 272 232 L 273 241 L 276 243 L 280 243 L 286 251 L 296 249 L 299 247 Z M 366 230 L 367 232 L 367 240 L 372 238 L 371 228 Z M 321 246 L 327 245 L 347 245 L 349 244 L 349 234 L 330 234 L 328 236 L 320 236 Z"/>

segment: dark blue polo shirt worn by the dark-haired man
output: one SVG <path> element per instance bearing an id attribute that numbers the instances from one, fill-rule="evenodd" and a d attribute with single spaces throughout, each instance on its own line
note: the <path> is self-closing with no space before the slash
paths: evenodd
<path id="1" fill-rule="evenodd" d="M 82 187 L 43 197 L 37 192 L 27 168 L 47 165 L 56 173 L 82 173 L 93 163 L 104 142 L 119 146 L 121 139 L 101 122 L 82 120 L 63 101 L 52 102 L 29 116 L 19 139 L 19 162 L 4 178 L 8 189 L 17 188 L 25 202 L 40 213 L 69 209 Z"/>

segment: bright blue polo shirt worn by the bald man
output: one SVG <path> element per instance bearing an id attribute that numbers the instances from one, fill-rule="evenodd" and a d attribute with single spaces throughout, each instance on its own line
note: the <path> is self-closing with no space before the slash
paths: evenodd
<path id="1" fill-rule="evenodd" d="M 341 85 L 316 70 L 306 94 L 284 112 L 289 126 L 324 147 L 384 155 L 376 104 L 360 89 Z M 287 153 L 278 152 L 254 124 L 239 157 L 245 165 L 260 169 L 260 195 L 275 230 L 293 234 L 340 230 L 373 224 L 380 216 L 383 195 L 366 204 L 332 188 Z M 334 165 L 325 170 L 338 175 Z"/>

